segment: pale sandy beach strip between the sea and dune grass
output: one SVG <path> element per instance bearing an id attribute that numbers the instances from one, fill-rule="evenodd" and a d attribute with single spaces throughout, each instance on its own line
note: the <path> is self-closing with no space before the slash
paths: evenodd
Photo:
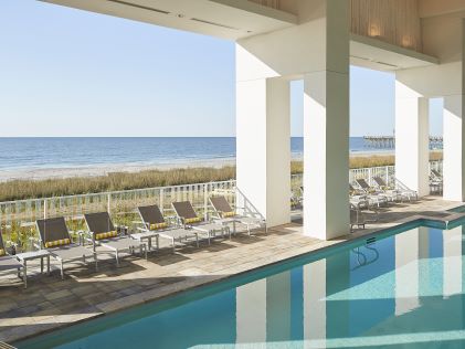
<path id="1" fill-rule="evenodd" d="M 393 151 L 357 151 L 351 152 L 350 157 L 370 157 L 370 156 L 389 156 Z M 295 161 L 300 161 L 302 156 L 293 156 Z M 0 182 L 10 180 L 43 180 L 54 178 L 72 178 L 72 177 L 97 177 L 106 176 L 112 172 L 140 172 L 144 170 L 169 170 L 176 168 L 192 167 L 212 167 L 221 168 L 224 166 L 234 166 L 235 158 L 218 158 L 186 160 L 171 163 L 102 163 L 95 166 L 81 167 L 50 167 L 50 168 L 28 168 L 28 169 L 0 169 Z"/>

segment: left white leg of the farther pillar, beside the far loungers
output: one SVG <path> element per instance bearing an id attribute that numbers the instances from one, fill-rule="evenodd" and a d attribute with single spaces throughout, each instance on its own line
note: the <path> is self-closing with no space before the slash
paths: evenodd
<path id="1" fill-rule="evenodd" d="M 420 197 L 430 193 L 429 99 L 395 82 L 395 178 Z"/>

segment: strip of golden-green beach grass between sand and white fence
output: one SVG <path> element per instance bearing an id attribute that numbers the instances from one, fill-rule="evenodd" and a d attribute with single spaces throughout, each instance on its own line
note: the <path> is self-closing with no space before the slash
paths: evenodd
<path id="1" fill-rule="evenodd" d="M 442 152 L 431 152 L 431 160 L 442 158 Z M 350 158 L 350 168 L 394 165 L 394 156 L 360 156 Z M 292 161 L 290 172 L 303 172 L 302 161 Z M 235 167 L 177 168 L 169 170 L 142 170 L 139 172 L 113 172 L 98 177 L 72 177 L 46 180 L 11 180 L 0 183 L 0 201 L 31 198 L 74 195 L 105 191 L 119 191 L 178 184 L 224 181 L 235 178 Z"/>

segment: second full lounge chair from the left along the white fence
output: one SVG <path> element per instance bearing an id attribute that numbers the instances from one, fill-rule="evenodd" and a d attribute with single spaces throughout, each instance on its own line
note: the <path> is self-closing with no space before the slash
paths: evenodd
<path id="1" fill-rule="evenodd" d="M 142 255 L 142 251 L 145 251 L 145 256 L 147 258 L 146 244 L 129 236 L 121 236 L 113 224 L 108 212 L 87 213 L 84 214 L 84 218 L 92 236 L 94 251 L 96 245 L 113 251 L 115 253 L 117 266 L 119 266 L 120 252 L 127 251 L 134 253 L 136 248 L 139 248 L 140 255 Z"/>

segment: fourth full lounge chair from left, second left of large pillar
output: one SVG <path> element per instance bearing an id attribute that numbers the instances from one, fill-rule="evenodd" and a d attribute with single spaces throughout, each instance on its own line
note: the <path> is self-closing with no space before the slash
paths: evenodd
<path id="1" fill-rule="evenodd" d="M 231 231 L 228 226 L 224 226 L 221 223 L 207 222 L 198 216 L 190 201 L 172 202 L 171 205 L 175 209 L 179 223 L 183 225 L 184 229 L 193 229 L 201 232 L 207 236 L 209 244 L 211 237 L 216 236 L 216 232 L 221 232 L 222 235 L 224 235 L 224 232 L 228 232 L 231 237 Z"/>

